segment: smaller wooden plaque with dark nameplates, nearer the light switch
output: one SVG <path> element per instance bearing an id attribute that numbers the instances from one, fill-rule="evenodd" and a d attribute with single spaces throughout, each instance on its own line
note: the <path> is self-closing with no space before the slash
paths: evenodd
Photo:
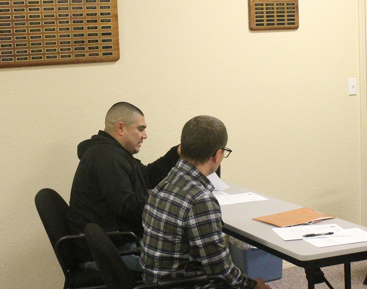
<path id="1" fill-rule="evenodd" d="M 248 0 L 251 30 L 297 29 L 298 0 Z"/>

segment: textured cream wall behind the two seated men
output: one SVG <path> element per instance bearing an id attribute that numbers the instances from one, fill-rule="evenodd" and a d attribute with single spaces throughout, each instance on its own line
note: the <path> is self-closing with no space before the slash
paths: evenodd
<path id="1" fill-rule="evenodd" d="M 224 180 L 360 223 L 358 3 L 320 4 L 299 0 L 298 30 L 255 33 L 245 0 L 119 0 L 119 61 L 1 69 L 1 288 L 62 287 L 34 195 L 69 201 L 76 146 L 117 101 L 145 113 L 143 162 L 213 115 Z"/>

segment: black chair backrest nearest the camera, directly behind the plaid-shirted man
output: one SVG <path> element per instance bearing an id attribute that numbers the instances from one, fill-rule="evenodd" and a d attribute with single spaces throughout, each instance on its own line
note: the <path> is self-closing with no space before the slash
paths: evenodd
<path id="1" fill-rule="evenodd" d="M 132 289 L 137 283 L 111 239 L 97 224 L 87 224 L 84 236 L 107 289 Z"/>

